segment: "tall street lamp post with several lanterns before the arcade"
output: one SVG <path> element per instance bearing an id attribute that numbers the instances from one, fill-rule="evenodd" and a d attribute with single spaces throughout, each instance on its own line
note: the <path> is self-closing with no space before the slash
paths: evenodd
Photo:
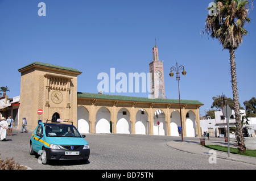
<path id="1" fill-rule="evenodd" d="M 174 77 L 174 73 L 172 73 L 172 71 L 176 71 L 176 80 L 178 81 L 178 89 L 179 89 L 179 104 L 180 104 L 180 70 L 183 70 L 181 73 L 183 75 L 186 75 L 187 72 L 184 70 L 184 66 L 180 65 L 179 67 L 177 66 L 177 62 L 176 62 L 176 68 L 175 66 L 172 66 L 171 68 L 171 73 L 169 74 L 170 77 Z M 183 127 L 182 127 L 182 118 L 181 118 L 181 105 L 180 105 L 180 127 L 181 127 L 181 141 L 183 141 Z"/>

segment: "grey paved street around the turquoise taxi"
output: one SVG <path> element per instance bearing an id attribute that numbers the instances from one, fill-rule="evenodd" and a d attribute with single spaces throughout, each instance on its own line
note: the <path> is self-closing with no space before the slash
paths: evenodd
<path id="1" fill-rule="evenodd" d="M 0 159 L 14 157 L 20 165 L 40 170 L 256 169 L 255 165 L 228 159 L 217 159 L 216 163 L 209 163 L 209 156 L 186 153 L 168 146 L 170 141 L 180 140 L 179 137 L 137 134 L 86 134 L 85 140 L 89 142 L 91 151 L 87 163 L 61 161 L 42 165 L 38 163 L 38 157 L 29 154 L 31 133 L 32 131 L 20 133 L 18 129 L 14 129 L 13 136 L 0 142 Z"/>

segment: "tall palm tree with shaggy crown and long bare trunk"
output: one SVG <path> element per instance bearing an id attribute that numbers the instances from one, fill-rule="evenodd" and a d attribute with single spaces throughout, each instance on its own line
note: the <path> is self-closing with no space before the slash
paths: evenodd
<path id="1" fill-rule="evenodd" d="M 232 90 L 234 100 L 234 112 L 236 116 L 236 138 L 238 150 L 245 152 L 246 147 L 243 140 L 240 104 L 238 102 L 237 78 L 236 78 L 236 62 L 234 51 L 242 43 L 243 36 L 247 35 L 245 23 L 250 23 L 249 1 L 247 0 L 217 0 L 214 1 L 216 7 L 213 16 L 208 15 L 205 20 L 205 30 L 213 39 L 217 39 L 223 49 L 228 49 L 230 54 L 230 66 L 232 77 Z M 211 10 L 209 7 L 208 10 Z M 222 50 L 223 50 L 222 49 Z"/>

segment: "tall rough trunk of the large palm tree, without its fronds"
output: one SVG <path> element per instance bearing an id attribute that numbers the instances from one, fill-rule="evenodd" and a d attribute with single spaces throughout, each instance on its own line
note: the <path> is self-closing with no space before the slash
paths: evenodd
<path id="1" fill-rule="evenodd" d="M 235 116 L 236 116 L 236 127 L 237 127 L 236 138 L 237 138 L 238 150 L 245 152 L 246 147 L 245 147 L 245 142 L 243 140 L 243 133 L 242 133 L 240 104 L 238 102 L 236 61 L 235 61 L 233 48 L 229 49 L 229 54 L 230 54 L 232 90 L 233 90 L 233 100 L 234 100 L 234 112 L 235 112 Z"/>

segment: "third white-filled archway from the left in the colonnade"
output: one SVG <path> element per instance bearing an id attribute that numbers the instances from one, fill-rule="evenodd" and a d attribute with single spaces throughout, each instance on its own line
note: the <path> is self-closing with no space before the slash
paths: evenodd
<path id="1" fill-rule="evenodd" d="M 117 113 L 117 133 L 131 133 L 130 113 L 126 110 L 126 108 L 122 108 Z"/>

